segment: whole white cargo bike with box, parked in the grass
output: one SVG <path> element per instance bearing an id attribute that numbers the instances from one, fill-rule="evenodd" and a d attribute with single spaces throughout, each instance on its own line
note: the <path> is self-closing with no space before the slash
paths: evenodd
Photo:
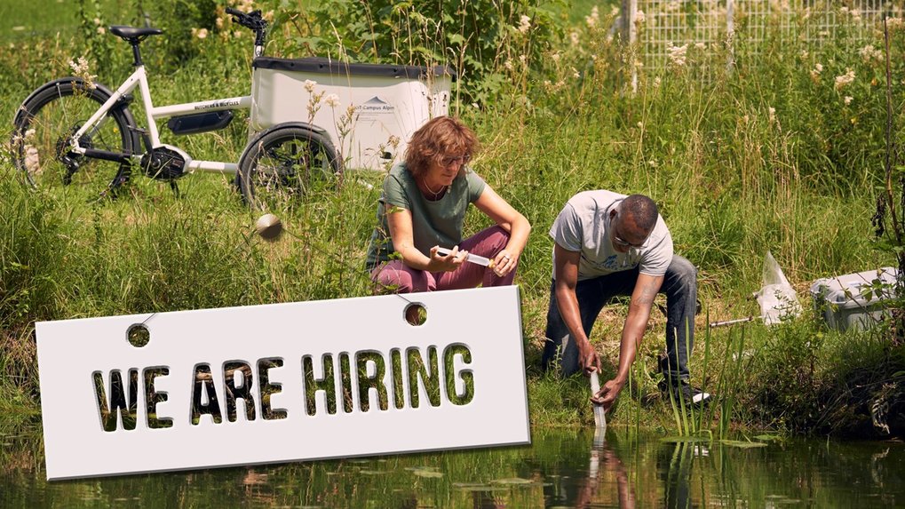
<path id="1" fill-rule="evenodd" d="M 344 168 L 382 168 L 400 158 L 412 132 L 449 108 L 455 74 L 447 67 L 266 57 L 261 12 L 227 13 L 255 34 L 250 95 L 155 106 L 139 44 L 162 31 L 111 26 L 110 34 L 131 45 L 135 71 L 115 91 L 82 77 L 53 80 L 33 91 L 14 119 L 14 164 L 25 181 L 103 197 L 115 195 L 133 168 L 174 189 L 186 174 L 219 172 L 235 176 L 251 206 L 277 209 L 303 197 L 319 178 Z M 147 128 L 129 110 L 136 88 Z M 224 129 L 233 110 L 251 110 L 248 144 L 238 163 L 196 160 L 160 141 L 159 119 L 169 119 L 167 128 L 175 134 L 187 135 Z"/>

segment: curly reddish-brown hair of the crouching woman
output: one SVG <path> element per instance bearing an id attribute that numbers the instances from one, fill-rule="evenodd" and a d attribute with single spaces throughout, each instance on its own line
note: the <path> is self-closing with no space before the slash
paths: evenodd
<path id="1" fill-rule="evenodd" d="M 405 149 L 405 167 L 419 177 L 430 168 L 431 161 L 442 164 L 443 158 L 473 157 L 481 144 L 474 131 L 454 117 L 436 117 L 414 131 Z M 465 165 L 459 168 L 464 171 Z"/>

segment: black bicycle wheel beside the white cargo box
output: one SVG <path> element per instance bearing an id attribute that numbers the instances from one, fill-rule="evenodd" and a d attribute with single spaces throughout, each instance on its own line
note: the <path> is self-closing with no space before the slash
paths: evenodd
<path id="1" fill-rule="evenodd" d="M 300 127 L 264 133 L 239 161 L 239 189 L 262 211 L 291 209 L 312 189 L 329 185 L 340 171 L 336 149 L 325 136 Z"/>

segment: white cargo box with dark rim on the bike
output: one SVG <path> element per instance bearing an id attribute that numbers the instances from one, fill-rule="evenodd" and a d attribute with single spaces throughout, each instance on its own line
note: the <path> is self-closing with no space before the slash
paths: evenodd
<path id="1" fill-rule="evenodd" d="M 456 79 L 445 66 L 325 58 L 259 57 L 252 66 L 252 130 L 307 121 L 327 131 L 347 168 L 382 169 L 401 160 L 412 133 L 427 120 L 447 114 Z M 323 94 L 319 101 L 312 101 L 318 94 Z M 327 100 L 333 94 L 337 103 L 331 105 Z M 349 105 L 355 113 L 344 126 Z"/>

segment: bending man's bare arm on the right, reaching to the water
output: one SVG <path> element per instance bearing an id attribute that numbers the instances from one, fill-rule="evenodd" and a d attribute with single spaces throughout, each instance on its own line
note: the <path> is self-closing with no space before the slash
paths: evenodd
<path id="1" fill-rule="evenodd" d="M 592 400 L 609 410 L 613 406 L 619 392 L 628 381 L 629 370 L 634 362 L 635 352 L 644 337 L 644 329 L 651 317 L 653 298 L 660 291 L 663 283 L 662 275 L 638 274 L 638 281 L 634 283 L 632 302 L 628 305 L 628 316 L 625 317 L 622 340 L 619 344 L 619 370 L 616 377 L 604 384 Z"/>

